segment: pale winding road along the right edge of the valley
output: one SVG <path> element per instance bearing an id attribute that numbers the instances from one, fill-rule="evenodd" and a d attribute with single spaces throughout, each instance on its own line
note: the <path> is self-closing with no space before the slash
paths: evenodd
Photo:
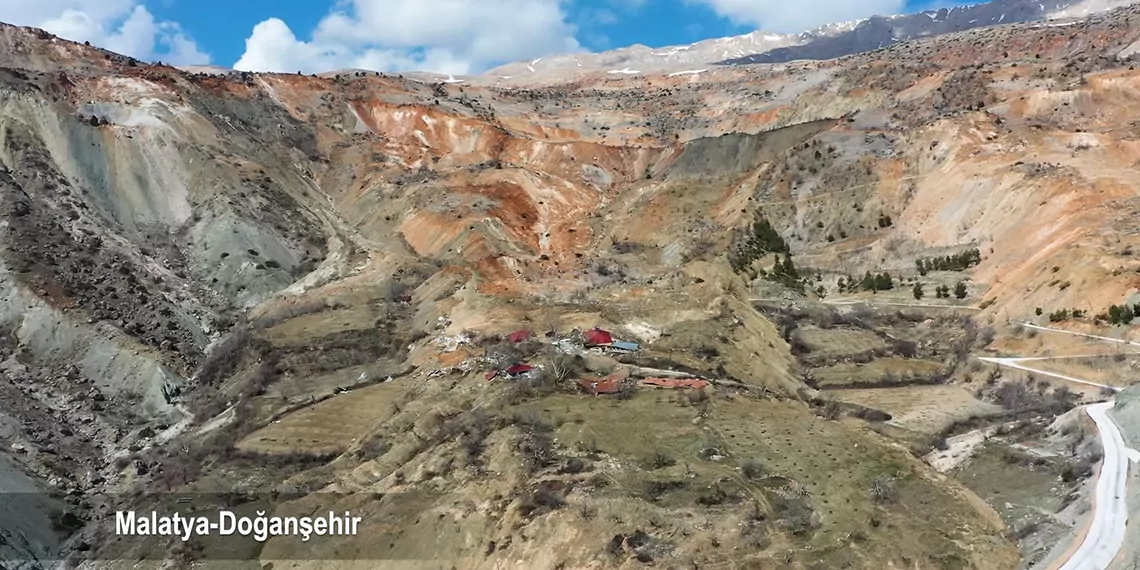
<path id="1" fill-rule="evenodd" d="M 1050 333 L 1070 334 L 1075 336 L 1084 336 L 1088 339 L 1096 339 L 1107 342 L 1116 342 L 1123 344 L 1140 345 L 1135 342 L 1125 341 L 1121 339 L 1112 339 L 1108 336 L 1097 336 L 1084 333 L 1073 333 L 1069 331 L 1061 331 L 1057 328 L 1049 328 L 1039 325 L 1031 325 L 1028 323 L 1019 323 L 1019 325 L 1034 328 L 1037 331 L 1045 331 Z M 1008 368 L 1013 368 L 1024 372 L 1031 372 L 1033 374 L 1040 374 L 1043 376 L 1051 376 L 1054 378 L 1064 380 L 1066 382 L 1073 382 L 1077 384 L 1084 384 L 1090 386 L 1097 386 L 1101 389 L 1112 390 L 1114 392 L 1119 392 L 1119 388 L 1107 386 L 1104 384 L 1098 384 L 1096 382 L 1089 382 L 1086 380 L 1076 378 L 1073 376 L 1067 376 L 1064 374 L 1057 374 L 1045 370 L 1039 370 L 1036 368 L 1031 368 L 1025 366 L 1024 361 L 1031 360 L 1042 360 L 1042 358 L 978 358 L 982 361 L 991 363 L 997 366 L 1004 366 Z M 1124 546 L 1125 529 L 1127 527 L 1129 511 L 1127 511 L 1127 478 L 1129 478 L 1129 463 L 1140 461 L 1140 453 L 1134 449 L 1129 449 L 1124 443 L 1124 437 L 1121 435 L 1121 430 L 1113 422 L 1113 418 L 1108 415 L 1109 410 L 1116 406 L 1115 401 L 1106 401 L 1101 404 L 1094 404 L 1085 408 L 1089 417 L 1097 424 L 1097 431 L 1100 433 L 1101 447 L 1104 448 L 1104 462 L 1100 465 L 1100 471 L 1097 475 L 1097 487 L 1093 491 L 1093 513 L 1092 522 L 1088 528 L 1088 532 L 1084 535 L 1084 539 L 1081 542 L 1076 549 L 1072 549 L 1068 553 L 1068 559 L 1061 559 L 1048 568 L 1057 570 L 1105 570 L 1116 559 L 1117 554 L 1121 552 L 1121 547 Z"/>

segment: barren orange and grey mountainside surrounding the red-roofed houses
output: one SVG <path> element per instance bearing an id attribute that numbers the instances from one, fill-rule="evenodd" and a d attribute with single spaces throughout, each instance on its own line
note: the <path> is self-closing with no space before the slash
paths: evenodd
<path id="1" fill-rule="evenodd" d="M 90 523 L 62 548 L 92 567 L 1013 568 L 993 510 L 834 421 L 750 300 L 948 279 L 915 261 L 977 249 L 980 321 L 1134 301 L 1138 40 L 1125 8 L 504 89 L 188 73 L 5 26 L 3 449 L 66 498 L 60 540 Z M 579 353 L 595 326 L 641 351 Z M 543 373 L 488 380 L 519 361 Z M 661 369 L 715 384 L 573 382 Z M 174 490 L 373 522 L 106 535 Z"/>

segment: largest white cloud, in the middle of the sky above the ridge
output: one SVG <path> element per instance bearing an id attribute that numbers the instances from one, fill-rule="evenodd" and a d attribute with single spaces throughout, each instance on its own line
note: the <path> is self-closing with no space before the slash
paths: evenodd
<path id="1" fill-rule="evenodd" d="M 477 73 L 578 51 L 564 0 L 347 0 L 304 41 L 270 18 L 254 26 L 235 70 L 337 68 Z"/>

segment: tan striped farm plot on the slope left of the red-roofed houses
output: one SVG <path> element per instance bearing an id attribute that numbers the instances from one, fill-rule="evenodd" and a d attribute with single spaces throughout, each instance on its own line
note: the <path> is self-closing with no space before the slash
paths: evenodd
<path id="1" fill-rule="evenodd" d="M 237 448 L 267 455 L 342 451 L 392 414 L 392 402 L 409 382 L 385 382 L 329 398 L 296 410 L 246 435 Z"/>

